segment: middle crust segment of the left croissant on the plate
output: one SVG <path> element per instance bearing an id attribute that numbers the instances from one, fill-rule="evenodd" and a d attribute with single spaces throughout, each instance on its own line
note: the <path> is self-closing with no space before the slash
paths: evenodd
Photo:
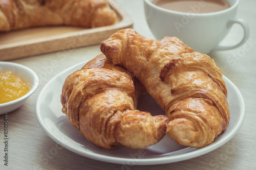
<path id="1" fill-rule="evenodd" d="M 84 100 L 79 107 L 80 132 L 90 142 L 111 149 L 118 146 L 114 137 L 123 111 L 133 109 L 133 101 L 124 91 L 106 90 Z"/>

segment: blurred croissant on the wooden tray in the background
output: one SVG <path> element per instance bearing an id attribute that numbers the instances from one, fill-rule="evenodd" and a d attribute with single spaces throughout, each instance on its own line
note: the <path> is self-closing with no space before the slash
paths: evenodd
<path id="1" fill-rule="evenodd" d="M 0 31 L 38 26 L 112 25 L 116 13 L 107 0 L 1 0 Z"/>

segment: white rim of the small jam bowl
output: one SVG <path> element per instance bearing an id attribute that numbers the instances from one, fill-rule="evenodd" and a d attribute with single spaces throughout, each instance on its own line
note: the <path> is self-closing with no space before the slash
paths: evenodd
<path id="1" fill-rule="evenodd" d="M 15 100 L 10 101 L 10 102 L 1 103 L 0 104 L 0 108 L 6 107 L 6 106 L 9 106 L 9 105 L 14 105 L 14 104 L 16 104 L 18 102 L 23 101 L 24 99 L 29 97 L 31 94 L 33 94 L 35 92 L 35 90 L 38 88 L 38 85 L 39 85 L 38 76 L 35 73 L 35 71 L 33 71 L 31 68 L 29 68 L 29 67 L 27 67 L 25 65 L 22 65 L 22 64 L 15 63 L 15 62 L 0 61 L 0 66 L 2 66 L 2 65 L 8 65 L 8 66 L 11 66 L 11 67 L 15 67 L 15 68 L 17 68 L 19 70 L 20 70 L 20 68 L 22 68 L 22 70 L 24 70 L 24 72 L 26 72 L 26 73 L 28 73 L 29 75 L 32 76 L 32 78 L 33 78 L 33 85 L 30 88 L 28 93 L 26 93 L 25 95 L 15 99 Z"/>

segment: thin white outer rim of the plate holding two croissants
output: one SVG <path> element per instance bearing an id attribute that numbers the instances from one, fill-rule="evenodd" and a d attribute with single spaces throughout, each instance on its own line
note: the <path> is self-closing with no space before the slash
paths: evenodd
<path id="1" fill-rule="evenodd" d="M 90 61 L 90 59 L 78 63 L 76 65 L 73 65 L 69 68 L 66 68 L 65 70 L 61 71 L 60 73 L 58 73 L 57 75 L 55 75 L 54 77 L 52 77 L 45 85 L 44 87 L 41 89 L 40 93 L 38 94 L 36 103 L 35 103 L 35 113 L 36 113 L 36 118 L 38 120 L 38 123 L 40 124 L 40 126 L 43 128 L 43 130 L 45 131 L 45 133 L 47 133 L 47 135 L 56 143 L 60 144 L 62 147 L 65 147 L 66 149 L 77 153 L 81 156 L 85 156 L 87 158 L 90 159 L 95 159 L 98 161 L 104 161 L 104 162 L 110 162 L 110 163 L 115 163 L 115 164 L 125 164 L 125 162 L 132 162 L 133 165 L 153 165 L 153 164 L 167 164 L 167 163 L 174 163 L 174 162 L 178 162 L 178 161 L 184 161 L 187 159 L 192 159 L 201 155 L 204 155 L 206 153 L 211 152 L 212 150 L 217 149 L 218 147 L 221 147 L 222 145 L 224 145 L 225 143 L 227 143 L 228 141 L 230 141 L 230 139 L 232 139 L 236 133 L 241 129 L 241 126 L 244 123 L 244 119 L 246 116 L 246 112 L 245 112 L 245 105 L 244 105 L 244 99 L 243 96 L 241 94 L 241 92 L 239 91 L 239 89 L 236 87 L 236 85 L 227 77 L 225 77 L 223 75 L 223 79 L 225 80 L 225 82 L 229 82 L 229 84 L 233 87 L 234 91 L 236 91 L 236 94 L 239 96 L 239 103 L 241 103 L 241 114 L 239 116 L 239 122 L 236 124 L 236 126 L 233 128 L 233 130 L 231 131 L 231 133 L 229 133 L 227 136 L 224 137 L 224 139 L 222 139 L 219 142 L 215 142 L 212 143 L 206 147 L 203 148 L 199 148 L 196 150 L 192 150 L 189 153 L 182 153 L 180 155 L 175 155 L 175 156 L 165 156 L 165 157 L 157 157 L 157 158 L 141 158 L 141 159 L 132 159 L 132 158 L 120 158 L 120 157 L 114 157 L 114 156 L 106 156 L 106 155 L 102 155 L 99 153 L 93 153 L 93 152 L 87 152 L 86 150 L 81 150 L 77 147 L 74 147 L 72 145 L 67 144 L 66 142 L 64 142 L 63 140 L 59 140 L 58 137 L 55 136 L 54 133 L 52 133 L 47 126 L 43 123 L 41 116 L 40 116 L 40 111 L 39 111 L 39 101 L 40 101 L 40 97 L 43 94 L 43 92 L 45 91 L 45 89 L 47 88 L 47 86 L 54 81 L 57 77 L 59 77 L 61 74 L 64 74 L 70 70 L 72 70 L 73 68 L 78 67 L 79 65 L 82 67 L 82 65 L 86 64 L 88 61 Z M 78 69 L 79 70 L 79 69 Z"/>

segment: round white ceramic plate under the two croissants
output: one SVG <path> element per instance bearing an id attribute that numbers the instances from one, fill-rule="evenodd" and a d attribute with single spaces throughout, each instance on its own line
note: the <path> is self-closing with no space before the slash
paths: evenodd
<path id="1" fill-rule="evenodd" d="M 236 135 L 244 122 L 245 108 L 241 93 L 229 79 L 223 77 L 228 89 L 228 103 L 231 113 L 230 125 L 209 146 L 201 149 L 183 147 L 165 136 L 159 143 L 143 150 L 131 149 L 125 146 L 116 150 L 104 150 L 87 141 L 79 133 L 79 130 L 70 125 L 67 116 L 61 112 L 60 95 L 62 85 L 68 75 L 80 69 L 85 63 L 68 68 L 53 77 L 44 86 L 36 102 L 36 116 L 47 135 L 58 144 L 82 156 L 129 165 L 165 164 L 182 161 L 201 156 L 225 144 Z M 140 98 L 138 109 L 149 111 L 152 114 L 164 114 L 162 109 L 148 95 Z"/>

